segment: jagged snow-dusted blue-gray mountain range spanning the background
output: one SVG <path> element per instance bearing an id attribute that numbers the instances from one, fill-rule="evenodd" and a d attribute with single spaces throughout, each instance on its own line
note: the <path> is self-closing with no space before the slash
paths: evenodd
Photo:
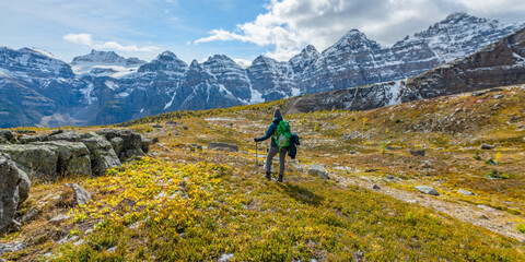
<path id="1" fill-rule="evenodd" d="M 93 50 L 67 63 L 37 48 L 0 47 L 0 127 L 108 124 L 394 83 L 368 87 L 360 99 L 368 106 L 357 108 L 373 108 L 402 102 L 395 93 L 401 80 L 480 51 L 524 26 L 454 13 L 392 47 L 351 29 L 322 52 L 308 45 L 289 61 L 259 56 L 247 69 L 222 55 L 188 66 L 171 51 L 145 62 Z M 432 93 L 419 86 L 413 96 Z M 377 88 L 388 88 L 388 103 L 376 97 Z"/>

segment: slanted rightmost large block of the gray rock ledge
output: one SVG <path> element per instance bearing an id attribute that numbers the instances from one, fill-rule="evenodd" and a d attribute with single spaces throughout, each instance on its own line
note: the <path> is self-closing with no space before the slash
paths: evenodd
<path id="1" fill-rule="evenodd" d="M 104 136 L 96 133 L 82 135 L 82 143 L 90 151 L 91 167 L 96 175 L 104 175 L 107 169 L 120 166 L 112 144 Z"/>

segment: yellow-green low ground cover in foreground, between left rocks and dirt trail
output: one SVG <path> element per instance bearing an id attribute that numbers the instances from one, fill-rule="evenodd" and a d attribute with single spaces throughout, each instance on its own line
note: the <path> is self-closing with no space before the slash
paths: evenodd
<path id="1" fill-rule="evenodd" d="M 236 261 L 350 261 L 353 252 L 369 261 L 525 259 L 515 241 L 485 229 L 368 190 L 294 176 L 299 182 L 275 183 L 214 164 L 126 164 L 93 179 L 91 190 L 106 195 L 73 214 L 107 217 L 100 211 L 124 198 L 137 205 L 112 212 L 83 245 L 62 246 L 56 260 L 213 261 L 233 253 Z"/>

